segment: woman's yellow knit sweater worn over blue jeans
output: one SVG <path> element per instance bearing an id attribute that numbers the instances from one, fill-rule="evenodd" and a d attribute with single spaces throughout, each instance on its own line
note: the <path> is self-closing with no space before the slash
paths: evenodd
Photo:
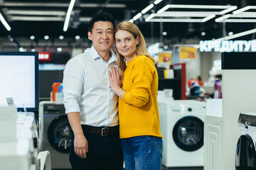
<path id="1" fill-rule="evenodd" d="M 154 63 L 144 55 L 127 62 L 119 98 L 120 138 L 151 135 L 162 137 L 157 105 L 158 75 Z"/>

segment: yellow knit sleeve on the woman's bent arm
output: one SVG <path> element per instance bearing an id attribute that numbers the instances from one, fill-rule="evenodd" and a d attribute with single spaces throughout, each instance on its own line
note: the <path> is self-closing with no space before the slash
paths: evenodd
<path id="1" fill-rule="evenodd" d="M 124 93 L 124 102 L 142 107 L 149 102 L 151 94 L 152 72 L 148 62 L 138 62 L 132 69 L 132 89 Z"/>

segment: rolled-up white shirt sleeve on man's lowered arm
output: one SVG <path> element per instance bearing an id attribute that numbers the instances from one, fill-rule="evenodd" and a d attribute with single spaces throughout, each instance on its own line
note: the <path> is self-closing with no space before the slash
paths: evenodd
<path id="1" fill-rule="evenodd" d="M 70 60 L 63 72 L 63 104 L 65 113 L 80 112 L 79 101 L 82 93 L 83 69 L 79 60 Z"/>

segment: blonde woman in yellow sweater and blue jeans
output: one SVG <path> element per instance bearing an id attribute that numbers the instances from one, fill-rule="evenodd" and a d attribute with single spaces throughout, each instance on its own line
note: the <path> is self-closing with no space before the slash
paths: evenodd
<path id="1" fill-rule="evenodd" d="M 125 169 L 161 169 L 163 142 L 157 106 L 158 75 L 154 58 L 134 23 L 124 21 L 114 29 L 122 80 L 116 67 L 109 72 L 111 89 L 119 96 L 119 131 Z"/>

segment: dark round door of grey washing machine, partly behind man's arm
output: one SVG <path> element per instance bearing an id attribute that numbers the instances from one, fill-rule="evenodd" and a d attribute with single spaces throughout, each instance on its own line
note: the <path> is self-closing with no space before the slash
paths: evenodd
<path id="1" fill-rule="evenodd" d="M 69 153 L 72 129 L 67 115 L 56 117 L 48 128 L 48 141 L 58 152 Z"/>

